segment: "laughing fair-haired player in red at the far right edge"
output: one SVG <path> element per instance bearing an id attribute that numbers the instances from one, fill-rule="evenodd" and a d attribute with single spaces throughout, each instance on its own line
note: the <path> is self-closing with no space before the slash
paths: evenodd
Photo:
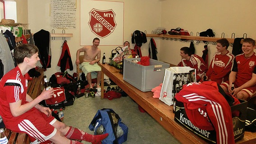
<path id="1" fill-rule="evenodd" d="M 220 85 L 225 92 L 233 94 L 238 99 L 249 100 L 256 93 L 256 54 L 253 51 L 255 48 L 255 40 L 251 38 L 243 40 L 243 54 L 235 57 L 229 81 Z M 231 90 L 232 83 L 234 83 L 233 90 Z"/>

